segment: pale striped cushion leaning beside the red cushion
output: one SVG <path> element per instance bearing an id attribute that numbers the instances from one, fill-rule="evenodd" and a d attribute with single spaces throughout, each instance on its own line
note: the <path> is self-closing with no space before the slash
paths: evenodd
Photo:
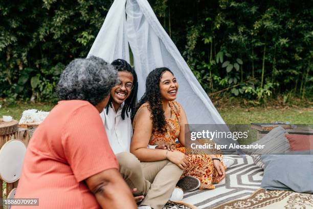
<path id="1" fill-rule="evenodd" d="M 290 150 L 290 145 L 286 139 L 286 130 L 282 127 L 276 127 L 267 133 L 263 138 L 251 143 L 265 145 L 263 150 L 248 151 L 247 154 L 251 155 L 254 163 L 261 169 L 264 169 L 264 163 L 261 160 L 261 154 L 284 154 Z"/>

